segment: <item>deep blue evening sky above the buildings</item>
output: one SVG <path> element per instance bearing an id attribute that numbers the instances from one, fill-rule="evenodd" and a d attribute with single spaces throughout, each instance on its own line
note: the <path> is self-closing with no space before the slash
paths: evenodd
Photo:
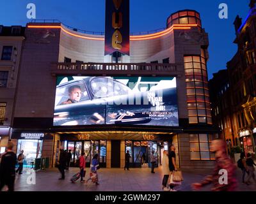
<path id="1" fill-rule="evenodd" d="M 166 18 L 173 12 L 192 9 L 200 12 L 202 25 L 209 33 L 208 73 L 226 67 L 236 53 L 234 19 L 246 18 L 249 0 L 130 0 L 131 32 L 150 31 L 166 26 Z M 26 25 L 26 5 L 36 4 L 37 19 L 58 19 L 64 24 L 87 31 L 104 31 L 105 0 L 1 0 L 0 24 Z M 228 19 L 218 17 L 219 4 L 228 4 Z"/>

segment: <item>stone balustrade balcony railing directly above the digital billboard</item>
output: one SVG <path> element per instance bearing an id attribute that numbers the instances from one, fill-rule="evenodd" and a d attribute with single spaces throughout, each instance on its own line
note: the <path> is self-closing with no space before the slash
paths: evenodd
<path id="1" fill-rule="evenodd" d="M 177 66 L 175 64 L 146 64 L 146 63 L 66 63 L 60 62 L 54 64 L 52 73 L 62 73 L 62 72 L 100 72 L 100 73 L 148 73 L 152 75 L 154 73 L 173 73 L 177 71 Z"/>

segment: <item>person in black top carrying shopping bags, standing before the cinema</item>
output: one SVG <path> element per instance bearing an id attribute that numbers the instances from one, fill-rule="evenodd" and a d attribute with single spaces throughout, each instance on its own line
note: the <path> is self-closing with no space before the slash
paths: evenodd
<path id="1" fill-rule="evenodd" d="M 182 177 L 181 179 L 177 179 L 177 166 L 176 166 L 176 155 L 175 155 L 175 146 L 171 145 L 170 146 L 170 152 L 168 154 L 169 157 L 169 170 L 170 170 L 170 176 L 169 176 L 169 182 L 170 184 L 170 191 L 176 191 L 174 189 L 175 186 L 180 186 L 181 181 L 183 180 Z M 179 171 L 180 172 L 180 171 Z M 181 172 L 179 173 L 181 175 Z"/>

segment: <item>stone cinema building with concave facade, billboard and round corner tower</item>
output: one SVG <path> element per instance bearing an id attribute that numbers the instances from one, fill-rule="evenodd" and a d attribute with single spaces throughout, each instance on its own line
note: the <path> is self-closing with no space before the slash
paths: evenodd
<path id="1" fill-rule="evenodd" d="M 126 150 L 133 167 L 150 166 L 152 150 L 160 165 L 173 143 L 180 168 L 212 168 L 219 129 L 200 14 L 177 11 L 166 29 L 128 38 L 115 23 L 111 30 L 106 20 L 105 34 L 56 21 L 26 25 L 10 135 L 17 151 L 33 147 L 54 166 L 63 147 L 73 165 L 84 151 L 87 166 L 99 154 L 102 167 L 124 168 Z"/>

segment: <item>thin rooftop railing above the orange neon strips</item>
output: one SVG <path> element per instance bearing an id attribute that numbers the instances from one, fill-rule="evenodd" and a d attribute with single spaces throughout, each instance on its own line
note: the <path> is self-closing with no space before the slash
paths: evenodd
<path id="1" fill-rule="evenodd" d="M 44 19 L 33 19 L 31 20 L 31 23 L 60 23 L 62 25 L 64 25 L 65 27 L 67 27 L 68 29 L 71 29 L 73 31 L 79 32 L 79 33 L 85 33 L 85 34 L 98 34 L 98 35 L 104 35 L 104 32 L 100 32 L 100 31 L 85 31 L 82 29 L 77 29 L 75 27 L 71 27 L 69 25 L 63 24 L 60 22 L 60 20 L 44 20 Z M 154 33 L 158 33 L 160 31 L 164 31 L 166 29 L 166 27 L 161 27 L 159 29 L 155 29 L 152 31 L 139 31 L 139 32 L 134 32 L 134 33 L 130 33 L 131 36 L 137 36 L 137 35 L 144 35 L 144 34 L 154 34 Z"/>

